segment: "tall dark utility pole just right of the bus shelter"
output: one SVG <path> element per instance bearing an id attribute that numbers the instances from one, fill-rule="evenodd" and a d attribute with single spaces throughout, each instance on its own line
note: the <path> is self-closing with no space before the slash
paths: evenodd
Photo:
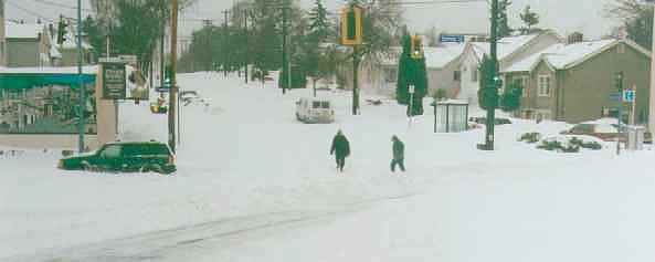
<path id="1" fill-rule="evenodd" d="M 498 84 L 500 80 L 498 78 L 498 55 L 497 55 L 497 43 L 498 43 L 498 0 L 492 0 L 492 32 L 490 32 L 490 54 L 492 54 L 492 62 L 489 63 L 488 71 L 485 72 L 487 77 L 485 77 L 486 83 L 486 91 L 483 92 L 485 95 L 486 101 L 488 102 L 487 105 L 487 123 L 486 123 L 486 134 L 485 134 L 485 145 L 478 145 L 478 149 L 483 150 L 494 150 L 494 127 L 496 123 L 496 103 L 498 101 Z M 482 146 L 482 147 L 480 147 Z"/>

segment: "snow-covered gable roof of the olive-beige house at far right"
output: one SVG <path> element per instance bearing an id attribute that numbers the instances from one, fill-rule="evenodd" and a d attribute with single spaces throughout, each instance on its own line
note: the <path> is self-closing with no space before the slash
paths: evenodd
<path id="1" fill-rule="evenodd" d="M 503 73 L 509 72 L 530 72 L 541 62 L 546 62 L 552 70 L 567 70 L 577 66 L 587 60 L 605 52 L 609 49 L 614 48 L 619 43 L 627 44 L 634 48 L 640 53 L 651 57 L 651 52 L 638 46 L 636 43 L 630 40 L 599 40 L 579 42 L 573 44 L 554 44 L 541 52 L 532 54 L 508 69 L 504 70 Z"/>

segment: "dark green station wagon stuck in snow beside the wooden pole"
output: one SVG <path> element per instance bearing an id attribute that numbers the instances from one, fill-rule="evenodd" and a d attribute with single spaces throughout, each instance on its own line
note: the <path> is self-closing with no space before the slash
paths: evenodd
<path id="1" fill-rule="evenodd" d="M 63 158 L 59 168 L 112 172 L 171 174 L 177 170 L 170 148 L 158 142 L 109 143 L 98 150 Z"/>

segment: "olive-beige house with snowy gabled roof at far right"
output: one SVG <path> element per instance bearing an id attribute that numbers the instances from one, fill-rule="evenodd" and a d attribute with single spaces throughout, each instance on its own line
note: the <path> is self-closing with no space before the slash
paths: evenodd
<path id="1" fill-rule="evenodd" d="M 645 122 L 651 52 L 633 41 L 581 41 L 573 38 L 501 70 L 506 84 L 516 83 L 524 87 L 517 116 L 569 123 L 598 119 L 615 112 L 619 103 L 610 97 L 617 92 L 614 82 L 617 72 L 624 74 L 625 88 L 636 88 L 632 120 Z M 628 113 L 628 109 L 624 112 Z"/>

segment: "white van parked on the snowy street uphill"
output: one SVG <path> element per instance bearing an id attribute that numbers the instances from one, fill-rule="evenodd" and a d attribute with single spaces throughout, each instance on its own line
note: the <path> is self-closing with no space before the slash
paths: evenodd
<path id="1" fill-rule="evenodd" d="M 335 111 L 328 99 L 300 98 L 296 102 L 296 118 L 307 124 L 327 124 L 335 122 Z"/>

